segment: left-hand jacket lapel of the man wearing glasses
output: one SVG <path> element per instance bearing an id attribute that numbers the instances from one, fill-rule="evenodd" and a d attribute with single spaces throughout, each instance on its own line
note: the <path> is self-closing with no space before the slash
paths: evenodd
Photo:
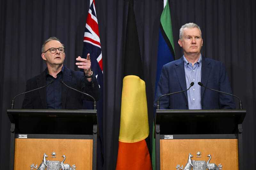
<path id="1" fill-rule="evenodd" d="M 36 84 L 37 84 L 37 87 L 42 87 L 46 84 L 46 80 L 45 80 L 45 70 L 40 74 L 40 76 L 38 78 L 36 78 Z M 39 95 L 40 95 L 40 98 L 41 98 L 41 101 L 42 101 L 42 106 L 44 109 L 47 109 L 47 106 L 46 106 L 46 87 L 45 88 L 42 88 L 42 89 L 39 89 Z"/>

